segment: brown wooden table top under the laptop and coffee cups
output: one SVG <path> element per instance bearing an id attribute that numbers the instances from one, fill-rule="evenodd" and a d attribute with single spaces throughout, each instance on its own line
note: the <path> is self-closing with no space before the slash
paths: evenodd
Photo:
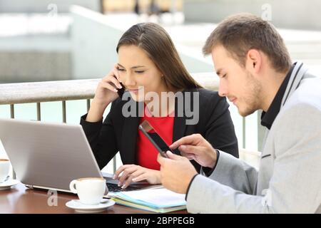
<path id="1" fill-rule="evenodd" d="M 76 195 L 58 192 L 57 206 L 49 206 L 49 195 L 47 191 L 31 190 L 21 183 L 11 187 L 9 190 L 0 190 L 0 213 L 1 214 L 73 214 L 73 209 L 66 207 L 66 202 L 78 199 Z M 52 201 L 51 201 L 52 202 Z M 146 214 L 150 213 L 141 209 L 134 209 L 118 204 L 108 207 L 104 214 Z M 186 210 L 175 212 L 185 214 Z"/>

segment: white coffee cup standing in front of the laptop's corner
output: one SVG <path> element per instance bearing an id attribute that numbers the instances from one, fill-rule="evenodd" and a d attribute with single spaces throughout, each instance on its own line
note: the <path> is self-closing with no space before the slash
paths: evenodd
<path id="1" fill-rule="evenodd" d="M 71 192 L 78 195 L 83 204 L 99 204 L 106 190 L 106 180 L 99 177 L 88 177 L 70 182 Z"/>

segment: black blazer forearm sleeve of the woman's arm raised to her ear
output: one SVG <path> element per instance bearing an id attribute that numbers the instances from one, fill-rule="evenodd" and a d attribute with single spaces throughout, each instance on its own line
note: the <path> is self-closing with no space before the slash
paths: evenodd
<path id="1" fill-rule="evenodd" d="M 101 118 L 101 121 L 91 123 L 86 121 L 87 114 L 81 117 L 80 124 L 100 169 L 103 169 L 118 152 L 113 125 L 114 106 L 112 103 L 111 110 L 104 121 Z"/>

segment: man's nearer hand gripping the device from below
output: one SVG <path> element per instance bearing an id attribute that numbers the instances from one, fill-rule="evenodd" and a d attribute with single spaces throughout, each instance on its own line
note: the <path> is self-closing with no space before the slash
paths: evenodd
<path id="1" fill-rule="evenodd" d="M 167 151 L 168 158 L 158 155 L 157 161 L 161 164 L 161 183 L 173 192 L 186 194 L 190 180 L 198 174 L 195 167 L 186 157 L 174 155 Z"/>

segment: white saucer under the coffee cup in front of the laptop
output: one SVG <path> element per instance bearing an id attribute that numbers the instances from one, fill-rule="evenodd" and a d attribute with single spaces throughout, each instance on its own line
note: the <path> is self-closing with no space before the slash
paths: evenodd
<path id="1" fill-rule="evenodd" d="M 113 204 L 115 204 L 115 202 L 110 199 L 102 199 L 100 204 L 93 205 L 82 204 L 79 199 L 72 199 L 66 202 L 66 207 L 75 209 L 76 212 L 81 213 L 97 213 L 104 211 L 107 207 L 113 206 Z"/>

